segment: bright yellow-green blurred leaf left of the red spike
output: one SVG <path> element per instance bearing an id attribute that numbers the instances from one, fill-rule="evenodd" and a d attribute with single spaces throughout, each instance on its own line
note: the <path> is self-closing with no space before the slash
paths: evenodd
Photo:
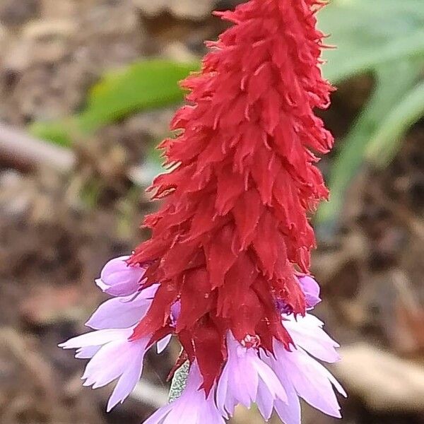
<path id="1" fill-rule="evenodd" d="M 142 110 L 175 105 L 184 98 L 179 81 L 199 69 L 199 62 L 145 60 L 107 73 L 88 94 L 81 113 L 52 122 L 35 122 L 34 136 L 71 146 L 71 133 L 87 134 Z"/>

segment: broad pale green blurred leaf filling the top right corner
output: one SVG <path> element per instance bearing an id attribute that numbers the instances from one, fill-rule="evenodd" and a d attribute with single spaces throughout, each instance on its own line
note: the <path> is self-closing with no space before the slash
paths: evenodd
<path id="1" fill-rule="evenodd" d="M 324 75 L 333 83 L 387 61 L 424 56 L 421 0 L 334 0 L 318 14 L 329 34 Z"/>

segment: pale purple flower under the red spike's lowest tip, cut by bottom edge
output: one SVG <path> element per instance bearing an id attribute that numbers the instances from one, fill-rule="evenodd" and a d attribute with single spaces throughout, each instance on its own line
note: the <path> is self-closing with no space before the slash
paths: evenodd
<path id="1" fill-rule="evenodd" d="M 192 363 L 181 396 L 159 408 L 143 424 L 225 424 L 213 399 L 213 390 L 206 397 L 204 389 L 200 388 L 202 382 L 199 367 Z"/>

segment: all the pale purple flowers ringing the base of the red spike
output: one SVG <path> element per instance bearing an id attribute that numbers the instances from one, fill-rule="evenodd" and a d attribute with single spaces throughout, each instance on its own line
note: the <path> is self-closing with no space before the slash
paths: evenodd
<path id="1" fill-rule="evenodd" d="M 61 343 L 62 348 L 76 349 L 76 358 L 90 359 L 83 374 L 85 386 L 93 389 L 116 381 L 107 411 L 122 403 L 141 377 L 143 358 L 150 336 L 131 340 L 136 324 L 146 315 L 158 285 L 141 290 L 144 269 L 126 264 L 127 257 L 113 259 L 102 271 L 98 285 L 114 295 L 98 307 L 86 323 L 95 330 Z M 319 287 L 309 276 L 299 278 L 308 308 L 319 301 Z M 171 309 L 171 325 L 179 315 L 180 304 Z M 160 408 L 146 424 L 224 424 L 242 404 L 257 404 L 265 420 L 273 409 L 285 424 L 300 424 L 300 401 L 339 417 L 334 387 L 346 395 L 336 379 L 319 363 L 339 359 L 338 344 L 322 329 L 323 323 L 311 314 L 305 317 L 282 314 L 283 325 L 293 339 L 292 351 L 274 341 L 274 355 L 258 349 L 256 343 L 242 344 L 232 333 L 227 336 L 228 360 L 218 382 L 206 397 L 202 377 L 194 362 L 182 396 Z M 171 336 L 156 343 L 163 351 Z M 249 338 L 250 341 L 250 338 Z M 258 339 L 258 343 L 259 343 Z M 150 347 L 150 346 L 149 346 Z"/>

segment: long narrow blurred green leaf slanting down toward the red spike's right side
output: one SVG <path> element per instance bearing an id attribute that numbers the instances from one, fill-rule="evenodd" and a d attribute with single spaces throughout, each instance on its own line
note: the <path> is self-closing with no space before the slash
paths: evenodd
<path id="1" fill-rule="evenodd" d="M 381 67 L 377 71 L 375 89 L 370 100 L 360 112 L 348 136 L 340 142 L 341 147 L 334 158 L 329 176 L 331 198 L 318 210 L 319 224 L 334 225 L 343 206 L 346 189 L 363 164 L 370 138 L 373 134 L 382 134 L 386 117 L 391 116 L 392 108 L 399 98 L 416 84 L 420 70 L 420 64 L 400 62 Z"/>

